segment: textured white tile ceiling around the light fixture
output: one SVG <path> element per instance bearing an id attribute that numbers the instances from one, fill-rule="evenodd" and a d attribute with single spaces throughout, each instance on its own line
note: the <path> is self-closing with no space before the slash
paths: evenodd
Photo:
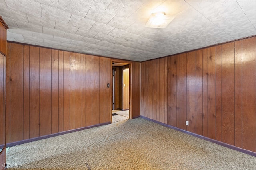
<path id="1" fill-rule="evenodd" d="M 256 0 L 1 0 L 7 39 L 145 61 L 256 35 Z M 146 28 L 151 12 L 176 18 Z"/>

